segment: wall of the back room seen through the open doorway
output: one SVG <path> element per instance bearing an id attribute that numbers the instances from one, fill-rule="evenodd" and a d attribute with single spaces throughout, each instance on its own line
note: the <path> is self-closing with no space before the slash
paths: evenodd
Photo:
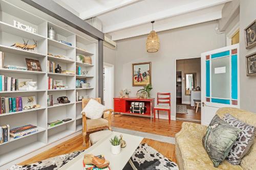
<path id="1" fill-rule="evenodd" d="M 177 60 L 176 61 L 176 70 L 181 71 L 182 75 L 182 103 L 183 104 L 190 104 L 190 95 L 185 95 L 185 74 L 186 73 L 194 73 L 196 72 L 196 87 L 199 86 L 201 88 L 201 58 L 194 58 L 194 59 L 186 59 L 186 60 Z M 195 87 L 195 88 L 196 88 Z"/>

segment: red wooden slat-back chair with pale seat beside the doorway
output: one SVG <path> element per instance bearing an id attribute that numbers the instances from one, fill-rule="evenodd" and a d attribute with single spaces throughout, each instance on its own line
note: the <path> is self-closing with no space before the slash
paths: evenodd
<path id="1" fill-rule="evenodd" d="M 159 119 L 159 110 L 168 112 L 170 124 L 170 93 L 157 93 L 157 105 L 154 107 L 154 121 L 156 122 L 156 110 Z"/>

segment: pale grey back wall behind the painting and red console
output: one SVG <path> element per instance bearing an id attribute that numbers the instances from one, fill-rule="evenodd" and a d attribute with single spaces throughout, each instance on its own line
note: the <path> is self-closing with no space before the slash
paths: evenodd
<path id="1" fill-rule="evenodd" d="M 132 86 L 132 64 L 151 61 L 152 97 L 156 98 L 157 92 L 171 92 L 171 116 L 175 119 L 175 59 L 197 57 L 203 52 L 225 46 L 225 35 L 216 34 L 215 26 L 215 21 L 211 21 L 159 32 L 160 51 L 153 54 L 145 50 L 146 35 L 117 41 L 115 96 L 118 96 L 123 88 L 131 89 L 131 96 L 135 96 L 141 87 Z"/>

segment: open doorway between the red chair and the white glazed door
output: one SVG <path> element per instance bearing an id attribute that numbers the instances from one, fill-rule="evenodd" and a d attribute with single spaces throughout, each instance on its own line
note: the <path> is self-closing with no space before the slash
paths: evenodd
<path id="1" fill-rule="evenodd" d="M 176 119 L 201 122 L 201 58 L 176 60 Z"/>

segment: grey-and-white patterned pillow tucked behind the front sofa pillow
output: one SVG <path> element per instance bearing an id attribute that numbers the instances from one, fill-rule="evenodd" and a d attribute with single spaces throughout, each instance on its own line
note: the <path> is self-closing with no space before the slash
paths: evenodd
<path id="1" fill-rule="evenodd" d="M 233 147 L 231 148 L 226 158 L 229 163 L 238 165 L 253 143 L 256 128 L 242 122 L 241 120 L 231 116 L 228 113 L 225 114 L 223 120 L 232 127 L 236 127 L 242 130 L 238 134 L 238 138 L 236 142 L 234 142 Z"/>

